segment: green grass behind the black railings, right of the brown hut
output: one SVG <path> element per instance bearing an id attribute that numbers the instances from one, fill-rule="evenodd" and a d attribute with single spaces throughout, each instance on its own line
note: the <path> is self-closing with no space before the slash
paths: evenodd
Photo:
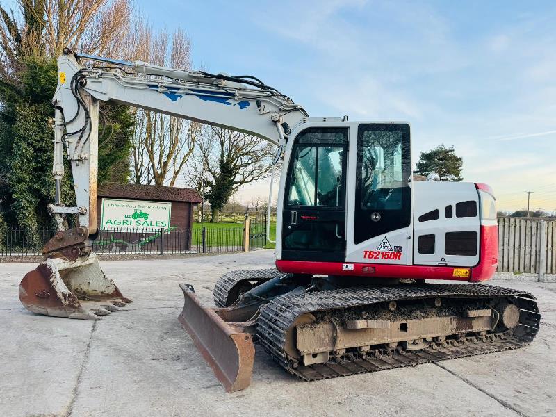
<path id="1" fill-rule="evenodd" d="M 243 222 L 240 223 L 193 223 L 193 245 L 201 245 L 201 231 L 206 227 L 206 245 L 213 246 L 241 246 L 243 245 Z M 261 231 L 263 228 L 261 227 Z M 276 223 L 270 223 L 270 238 L 276 238 Z M 272 249 L 274 243 L 266 243 L 265 248 Z"/>

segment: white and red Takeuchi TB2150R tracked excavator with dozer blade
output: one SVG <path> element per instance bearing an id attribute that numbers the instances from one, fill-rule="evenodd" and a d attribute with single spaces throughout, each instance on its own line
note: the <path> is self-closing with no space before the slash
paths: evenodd
<path id="1" fill-rule="evenodd" d="M 179 321 L 227 392 L 249 386 L 255 342 L 288 373 L 313 381 L 512 350 L 537 334 L 530 293 L 484 284 L 498 264 L 493 190 L 415 181 L 408 123 L 309 117 L 254 76 L 70 49 L 58 58 L 52 101 L 56 195 L 47 210 L 58 231 L 19 286 L 29 311 L 99 320 L 131 302 L 91 250 L 99 101 L 277 146 L 273 162 L 283 168 L 274 267 L 227 272 L 215 284 L 215 307 L 180 284 Z M 76 206 L 62 203 L 64 158 Z M 66 226 L 68 215 L 76 227 Z"/>

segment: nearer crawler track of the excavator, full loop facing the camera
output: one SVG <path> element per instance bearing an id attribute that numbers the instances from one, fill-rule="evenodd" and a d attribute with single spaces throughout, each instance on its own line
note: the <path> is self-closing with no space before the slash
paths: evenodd
<path id="1" fill-rule="evenodd" d="M 296 320 L 307 313 L 345 314 L 361 307 L 379 303 L 384 305 L 392 301 L 415 301 L 416 305 L 422 305 L 418 303 L 438 297 L 443 300 L 468 300 L 470 304 L 484 299 L 511 299 L 519 309 L 518 325 L 512 330 L 491 332 L 489 337 L 483 337 L 482 340 L 471 336 L 445 340 L 439 344 L 432 343 L 420 350 L 375 349 L 370 350 L 368 355 L 346 352 L 341 357 L 330 357 L 327 363 L 309 366 L 292 359 L 286 353 L 288 329 L 295 326 Z M 517 349 L 533 340 L 539 330 L 539 322 L 537 303 L 530 293 L 484 284 L 402 284 L 351 287 L 276 297 L 261 308 L 257 335 L 265 350 L 289 373 L 306 381 L 313 381 Z"/>

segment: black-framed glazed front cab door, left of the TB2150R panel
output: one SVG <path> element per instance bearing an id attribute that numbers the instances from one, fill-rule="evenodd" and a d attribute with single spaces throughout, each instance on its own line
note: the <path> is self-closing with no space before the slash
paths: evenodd
<path id="1" fill-rule="evenodd" d="M 345 260 L 347 127 L 311 127 L 293 144 L 284 208 L 281 259 Z"/>

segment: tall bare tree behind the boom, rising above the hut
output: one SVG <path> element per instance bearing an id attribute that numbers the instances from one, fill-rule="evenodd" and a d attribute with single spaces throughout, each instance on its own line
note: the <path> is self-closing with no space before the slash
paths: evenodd
<path id="1" fill-rule="evenodd" d="M 190 41 L 181 29 L 170 38 L 167 31 L 153 33 L 144 27 L 138 34 L 136 50 L 140 59 L 149 63 L 190 67 Z M 135 115 L 133 182 L 174 186 L 195 149 L 200 124 L 147 110 L 138 110 Z"/>

